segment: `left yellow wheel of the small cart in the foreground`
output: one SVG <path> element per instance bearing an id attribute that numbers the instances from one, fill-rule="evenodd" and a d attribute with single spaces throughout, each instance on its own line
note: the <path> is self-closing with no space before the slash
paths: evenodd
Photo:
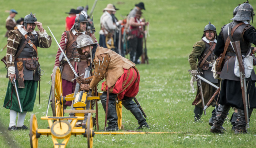
<path id="1" fill-rule="evenodd" d="M 37 117 L 35 114 L 32 114 L 30 117 L 30 127 L 29 127 L 29 137 L 30 137 L 30 147 L 37 148 L 38 147 L 38 137 L 37 137 Z"/>

